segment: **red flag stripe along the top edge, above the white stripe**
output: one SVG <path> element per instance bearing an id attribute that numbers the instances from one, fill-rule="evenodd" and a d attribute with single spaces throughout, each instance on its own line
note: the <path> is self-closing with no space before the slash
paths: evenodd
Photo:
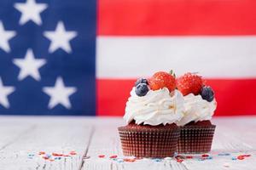
<path id="1" fill-rule="evenodd" d="M 100 0 L 98 35 L 255 35 L 254 0 Z"/>

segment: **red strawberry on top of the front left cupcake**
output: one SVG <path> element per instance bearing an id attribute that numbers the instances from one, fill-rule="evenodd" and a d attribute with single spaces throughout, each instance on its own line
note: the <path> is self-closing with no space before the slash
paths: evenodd
<path id="1" fill-rule="evenodd" d="M 149 80 L 149 87 L 152 90 L 158 90 L 166 87 L 170 92 L 172 92 L 176 88 L 175 75 L 172 75 L 172 71 L 171 74 L 165 71 L 156 72 Z"/>

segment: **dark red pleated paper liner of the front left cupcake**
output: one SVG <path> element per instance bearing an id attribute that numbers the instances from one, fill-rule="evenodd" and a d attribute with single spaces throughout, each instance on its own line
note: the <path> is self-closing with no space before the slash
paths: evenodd
<path id="1" fill-rule="evenodd" d="M 177 149 L 180 128 L 130 129 L 119 127 L 124 156 L 167 157 Z"/>

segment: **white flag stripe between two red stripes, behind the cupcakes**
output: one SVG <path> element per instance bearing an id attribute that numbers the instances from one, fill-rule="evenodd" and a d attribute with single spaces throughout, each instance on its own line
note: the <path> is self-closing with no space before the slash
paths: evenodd
<path id="1" fill-rule="evenodd" d="M 96 77 L 177 75 L 256 77 L 256 37 L 97 37 Z"/>

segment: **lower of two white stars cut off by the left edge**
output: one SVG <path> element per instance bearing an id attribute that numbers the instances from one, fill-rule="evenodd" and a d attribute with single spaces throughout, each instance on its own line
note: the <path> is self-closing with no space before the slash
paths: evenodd
<path id="1" fill-rule="evenodd" d="M 9 108 L 9 100 L 7 96 L 12 94 L 15 91 L 15 88 L 12 86 L 3 86 L 2 78 L 0 77 L 0 105 L 3 105 L 5 108 Z"/>

